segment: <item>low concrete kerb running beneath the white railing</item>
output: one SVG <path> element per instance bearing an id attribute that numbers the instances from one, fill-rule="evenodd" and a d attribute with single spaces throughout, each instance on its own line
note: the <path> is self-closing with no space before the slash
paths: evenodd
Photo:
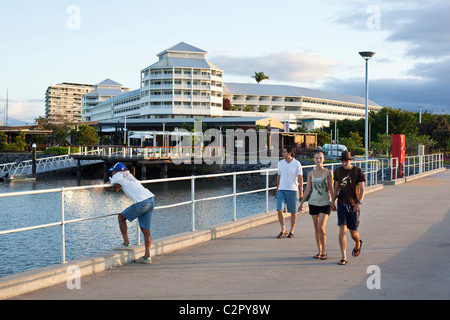
<path id="1" fill-rule="evenodd" d="M 382 189 L 383 185 L 381 184 L 371 186 L 366 189 L 366 194 Z M 304 212 L 307 213 L 307 206 L 305 206 L 305 209 Z M 221 223 L 206 230 L 185 232 L 156 239 L 152 241 L 151 256 L 163 255 L 277 220 L 278 215 L 276 211 L 271 211 L 237 221 Z M 103 252 L 101 254 L 79 258 L 67 264 L 51 265 L 3 277 L 0 278 L 0 299 L 11 298 L 67 282 L 72 276 L 72 271 L 70 270 L 72 266 L 78 268 L 80 277 L 85 277 L 131 263 L 135 258 L 144 255 L 144 251 L 143 245 L 131 246 L 129 250 Z"/>

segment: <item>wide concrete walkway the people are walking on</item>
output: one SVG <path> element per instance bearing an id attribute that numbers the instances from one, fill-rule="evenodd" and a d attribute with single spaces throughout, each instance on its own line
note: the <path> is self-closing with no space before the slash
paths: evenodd
<path id="1" fill-rule="evenodd" d="M 367 195 L 362 252 L 351 256 L 348 236 L 345 266 L 337 265 L 336 213 L 327 223 L 324 261 L 312 257 L 312 220 L 302 214 L 293 239 L 276 239 L 280 227 L 272 222 L 156 256 L 151 265 L 83 277 L 79 290 L 63 283 L 13 299 L 449 299 L 449 190 L 447 170 Z"/>

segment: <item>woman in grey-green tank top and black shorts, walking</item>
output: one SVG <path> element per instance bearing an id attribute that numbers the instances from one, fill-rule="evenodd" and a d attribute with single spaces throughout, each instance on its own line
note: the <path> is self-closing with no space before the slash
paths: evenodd
<path id="1" fill-rule="evenodd" d="M 327 253 L 325 250 L 326 232 L 325 225 L 330 215 L 331 195 L 333 194 L 333 172 L 324 168 L 324 154 L 316 152 L 314 162 L 316 167 L 308 173 L 305 194 L 303 196 L 298 211 L 303 211 L 303 203 L 307 199 L 309 193 L 311 197 L 308 201 L 309 214 L 312 217 L 317 248 L 319 253 L 314 256 L 316 259 L 325 260 Z"/>

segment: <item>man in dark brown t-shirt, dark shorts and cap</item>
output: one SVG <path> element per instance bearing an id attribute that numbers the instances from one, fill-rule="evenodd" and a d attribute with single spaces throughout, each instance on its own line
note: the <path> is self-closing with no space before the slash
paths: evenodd
<path id="1" fill-rule="evenodd" d="M 334 172 L 334 193 L 331 199 L 331 209 L 337 210 L 339 226 L 339 246 L 341 248 L 342 259 L 340 265 L 348 263 L 347 260 L 347 229 L 355 241 L 352 256 L 357 257 L 361 253 L 362 241 L 358 232 L 359 212 L 364 199 L 364 172 L 351 164 L 353 160 L 350 152 L 342 152 L 338 160 L 341 160 L 342 167 Z M 338 200 L 335 206 L 336 198 Z"/>

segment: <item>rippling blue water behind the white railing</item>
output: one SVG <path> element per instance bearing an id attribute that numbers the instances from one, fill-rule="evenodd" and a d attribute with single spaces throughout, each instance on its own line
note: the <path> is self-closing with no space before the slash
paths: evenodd
<path id="1" fill-rule="evenodd" d="M 239 178 L 237 191 L 264 188 L 265 184 L 254 186 L 251 181 L 249 178 L 241 183 Z M 103 184 L 103 181 L 97 179 L 81 181 L 81 185 L 95 184 Z M 73 177 L 58 177 L 36 182 L 0 183 L 0 193 L 73 186 L 78 186 Z M 190 186 L 189 180 L 146 185 L 155 194 L 156 206 L 190 201 Z M 232 191 L 231 181 L 223 179 L 195 181 L 196 199 L 226 195 Z M 273 195 L 271 192 L 269 196 L 269 210 L 276 209 L 276 199 Z M 238 219 L 266 211 L 265 192 L 238 196 L 236 203 Z M 65 221 L 69 221 L 118 213 L 132 202 L 122 191 L 114 193 L 111 188 L 99 188 L 67 191 L 64 204 Z M 155 210 L 152 219 L 152 239 L 191 231 L 191 208 L 189 204 Z M 196 229 L 201 230 L 214 224 L 231 221 L 234 214 L 233 198 L 197 202 L 195 209 Z M 59 221 L 61 221 L 60 192 L 0 198 L 0 231 Z M 137 229 L 137 220 L 128 223 L 132 244 L 137 241 Z M 122 242 L 116 216 L 67 224 L 65 235 L 67 261 L 109 251 Z M 60 226 L 0 236 L 0 277 L 60 262 Z"/>

